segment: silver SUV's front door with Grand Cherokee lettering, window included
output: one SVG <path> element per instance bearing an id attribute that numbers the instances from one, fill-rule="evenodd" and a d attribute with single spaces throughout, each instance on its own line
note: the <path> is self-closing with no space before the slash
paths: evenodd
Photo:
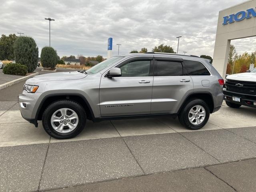
<path id="1" fill-rule="evenodd" d="M 152 57 L 153 58 L 153 57 Z M 100 112 L 102 117 L 150 114 L 153 77 L 152 59 L 136 57 L 119 67 L 122 76 L 100 81 Z"/>

